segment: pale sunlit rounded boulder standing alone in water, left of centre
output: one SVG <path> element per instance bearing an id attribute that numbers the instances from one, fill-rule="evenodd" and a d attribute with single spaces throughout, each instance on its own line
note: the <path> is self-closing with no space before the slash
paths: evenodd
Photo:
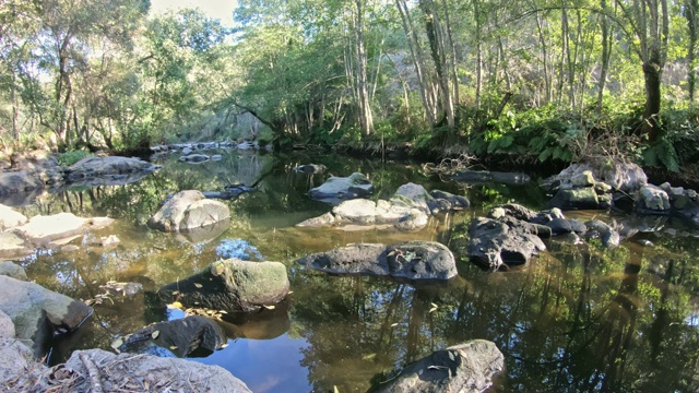
<path id="1" fill-rule="evenodd" d="M 180 231 L 202 228 L 230 218 L 230 210 L 222 202 L 206 199 L 197 190 L 181 191 L 167 201 L 149 219 L 151 228 Z"/>

